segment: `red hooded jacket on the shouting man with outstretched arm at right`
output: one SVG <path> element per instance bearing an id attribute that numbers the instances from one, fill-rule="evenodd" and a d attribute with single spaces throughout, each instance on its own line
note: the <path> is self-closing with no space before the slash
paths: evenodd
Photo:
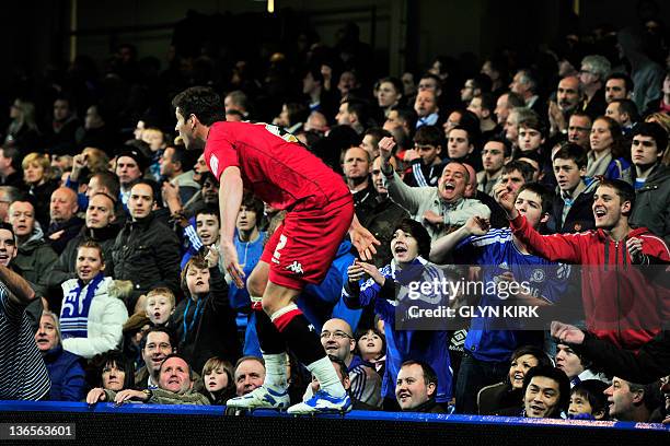
<path id="1" fill-rule="evenodd" d="M 621 348 L 637 350 L 670 320 L 670 293 L 649 280 L 667 274 L 666 267 L 631 266 L 626 240 L 643 239 L 645 263 L 669 263 L 663 240 L 646 227 L 632 230 L 614 242 L 604 231 L 540 235 L 523 215 L 510 221 L 513 234 L 540 257 L 582 265 L 581 300 L 587 329 Z"/>

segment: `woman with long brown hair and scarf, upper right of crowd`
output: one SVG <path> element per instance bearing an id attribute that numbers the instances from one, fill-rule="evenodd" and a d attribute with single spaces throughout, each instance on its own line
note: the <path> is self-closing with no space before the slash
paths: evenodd
<path id="1" fill-rule="evenodd" d="M 591 150 L 588 153 L 587 176 L 602 175 L 607 179 L 632 183 L 631 163 L 625 159 L 621 126 L 614 119 L 601 116 L 593 121 L 589 139 Z"/>

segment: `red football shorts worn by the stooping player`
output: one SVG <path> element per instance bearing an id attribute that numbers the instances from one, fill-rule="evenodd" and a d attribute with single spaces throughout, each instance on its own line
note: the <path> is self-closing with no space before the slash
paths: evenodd
<path id="1" fill-rule="evenodd" d="M 269 281 L 292 290 L 321 283 L 354 219 L 351 197 L 322 209 L 289 211 L 265 245 Z"/>

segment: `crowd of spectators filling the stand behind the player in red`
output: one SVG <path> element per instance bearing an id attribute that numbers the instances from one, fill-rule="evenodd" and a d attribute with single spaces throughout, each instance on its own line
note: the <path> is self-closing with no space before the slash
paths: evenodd
<path id="1" fill-rule="evenodd" d="M 222 270 L 218 178 L 175 138 L 170 101 L 208 85 L 227 120 L 268 122 L 340 173 L 381 242 L 363 262 L 342 240 L 326 279 L 298 301 L 355 408 L 668 416 L 667 285 L 637 278 L 624 298 L 566 268 L 670 262 L 662 23 L 482 55 L 481 69 L 438 56 L 400 78 L 371 69 L 356 26 L 343 33 L 335 47 L 308 33 L 309 46 L 239 60 L 176 51 L 162 71 L 122 45 L 102 71 L 80 56 L 12 92 L 0 148 L 1 399 L 226 404 L 263 384 L 251 312 L 262 293 Z M 282 216 L 245 195 L 235 248 L 246 277 Z M 584 320 L 400 327 L 398 283 L 450 274 L 438 266 L 486 281 L 541 266 L 546 275 L 513 300 L 552 306 L 576 293 Z M 639 302 L 624 314 L 621 300 Z M 291 402 L 308 399 L 319 383 L 288 364 Z"/>

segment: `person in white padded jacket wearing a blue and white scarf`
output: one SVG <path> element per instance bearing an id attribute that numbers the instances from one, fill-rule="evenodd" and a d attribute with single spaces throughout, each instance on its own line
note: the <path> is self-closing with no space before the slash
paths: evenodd
<path id="1" fill-rule="evenodd" d="M 60 324 L 62 345 L 91 359 L 116 349 L 128 319 L 126 305 L 108 294 L 112 278 L 104 274 L 101 246 L 92 240 L 77 249 L 77 279 L 62 283 Z"/>

